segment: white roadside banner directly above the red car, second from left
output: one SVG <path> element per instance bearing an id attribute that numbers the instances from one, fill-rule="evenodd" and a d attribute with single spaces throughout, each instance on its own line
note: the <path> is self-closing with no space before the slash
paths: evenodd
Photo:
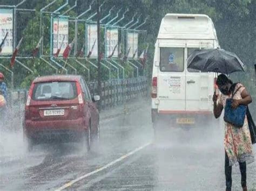
<path id="1" fill-rule="evenodd" d="M 58 56 L 62 56 L 69 43 L 69 19 L 53 18 L 53 54 L 60 48 Z"/>

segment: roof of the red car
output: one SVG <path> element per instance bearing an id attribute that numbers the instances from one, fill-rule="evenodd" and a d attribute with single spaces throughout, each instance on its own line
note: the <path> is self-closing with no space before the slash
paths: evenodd
<path id="1" fill-rule="evenodd" d="M 50 76 L 41 76 L 33 80 L 33 83 L 40 82 L 52 82 L 52 81 L 79 81 L 82 78 L 80 75 L 50 75 Z"/>

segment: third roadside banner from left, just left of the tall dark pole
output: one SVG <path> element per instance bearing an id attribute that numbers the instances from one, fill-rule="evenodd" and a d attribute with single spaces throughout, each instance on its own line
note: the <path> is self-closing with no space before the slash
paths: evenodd
<path id="1" fill-rule="evenodd" d="M 93 46 L 94 45 L 94 46 Z M 97 25 L 87 25 L 87 55 L 90 58 L 98 58 Z"/>

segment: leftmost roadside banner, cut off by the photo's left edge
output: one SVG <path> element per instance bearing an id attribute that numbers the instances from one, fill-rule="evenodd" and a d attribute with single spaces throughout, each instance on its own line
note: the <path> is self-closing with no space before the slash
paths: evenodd
<path id="1" fill-rule="evenodd" d="M 13 25 L 14 13 L 12 9 L 0 9 L 0 44 L 2 44 L 1 54 L 12 54 L 13 51 Z M 6 36 L 6 33 L 7 36 Z M 5 40 L 4 37 L 6 36 Z M 4 41 L 3 41 L 4 40 Z"/>

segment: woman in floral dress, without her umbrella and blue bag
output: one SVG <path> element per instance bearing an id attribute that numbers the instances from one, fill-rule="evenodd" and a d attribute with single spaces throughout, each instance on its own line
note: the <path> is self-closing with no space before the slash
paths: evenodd
<path id="1" fill-rule="evenodd" d="M 234 95 L 232 108 L 237 108 L 238 105 L 248 105 L 252 102 L 250 94 L 241 83 L 233 84 L 233 82 L 224 74 L 220 74 L 217 79 L 217 86 L 222 93 L 217 100 L 217 96 L 213 96 L 214 116 L 219 118 L 223 108 L 225 108 L 227 98 L 230 98 L 232 92 L 237 91 Z M 218 104 L 217 104 L 218 101 Z M 225 123 L 225 175 L 226 175 L 226 190 L 231 190 L 232 186 L 232 165 L 239 162 L 241 172 L 242 190 L 247 190 L 246 187 L 246 163 L 254 161 L 252 152 L 252 142 L 250 131 L 248 128 L 247 118 L 245 118 L 242 128 L 237 128 L 232 124 Z"/>

